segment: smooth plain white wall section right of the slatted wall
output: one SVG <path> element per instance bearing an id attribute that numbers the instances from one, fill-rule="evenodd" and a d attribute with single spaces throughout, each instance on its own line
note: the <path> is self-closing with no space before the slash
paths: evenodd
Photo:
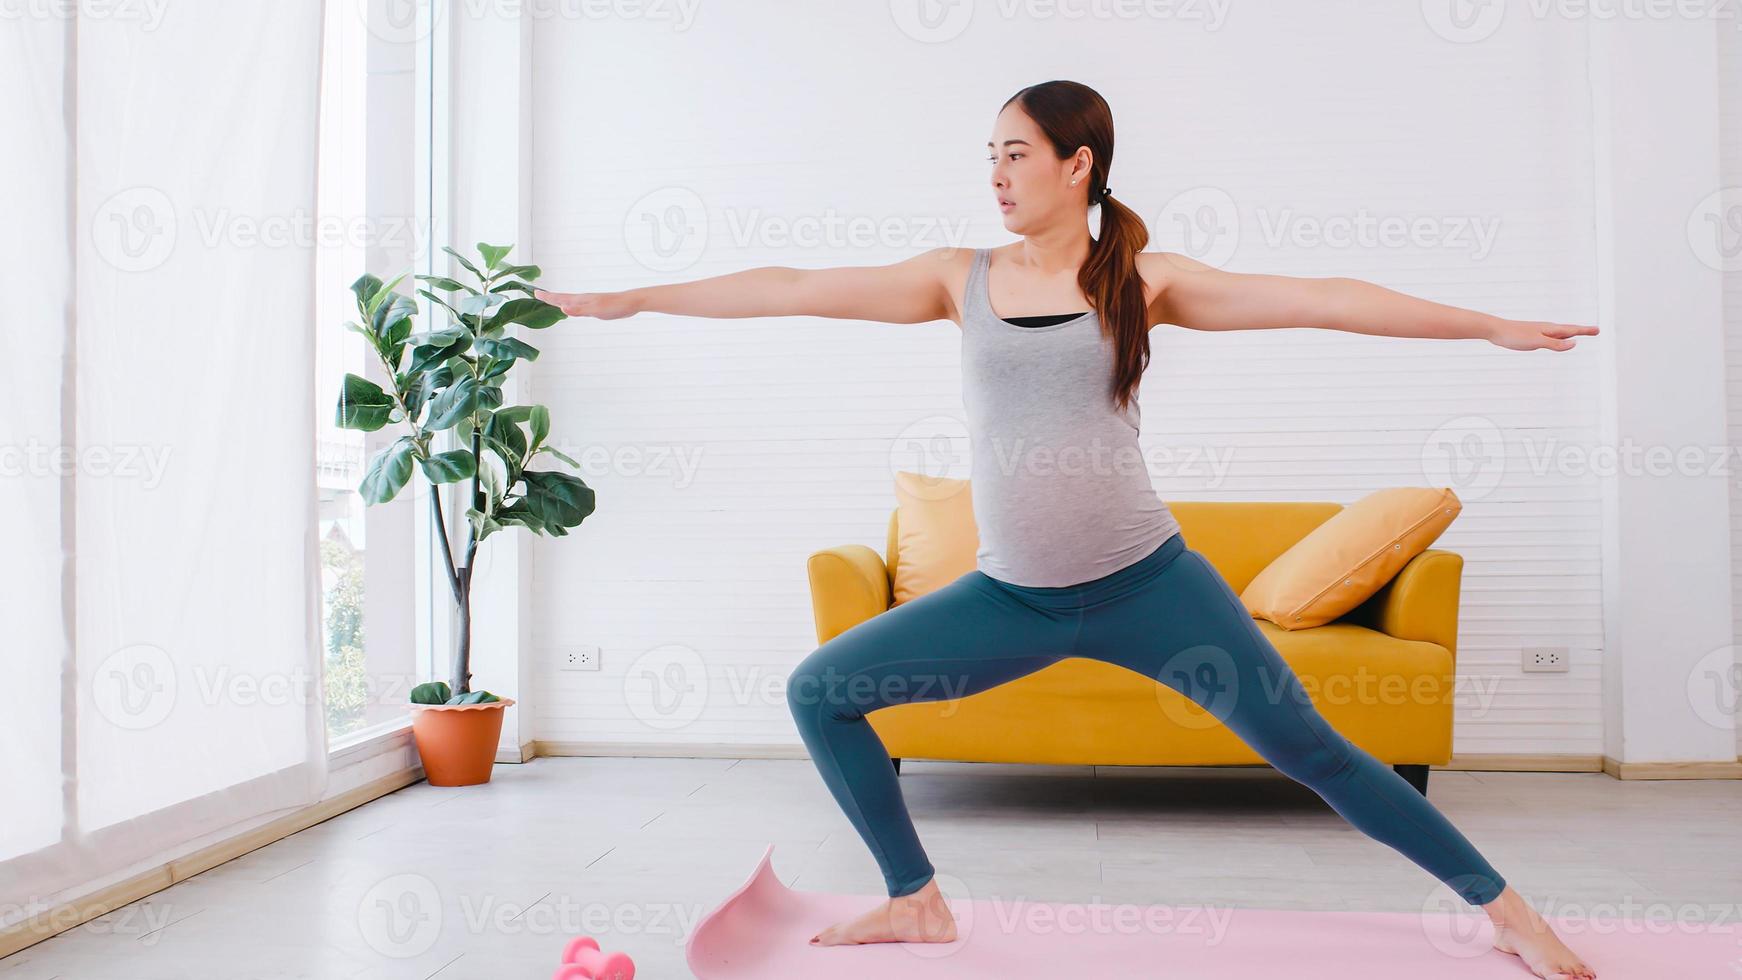
<path id="1" fill-rule="evenodd" d="M 1733 491 L 1709 465 L 1728 437 L 1723 282 L 1711 230 L 1690 237 L 1721 183 L 1718 35 L 1603 21 L 1590 38 L 1603 442 L 1655 454 L 1603 480 L 1604 754 L 1735 762 L 1733 717 L 1704 710 L 1714 661 L 1733 665 Z"/>

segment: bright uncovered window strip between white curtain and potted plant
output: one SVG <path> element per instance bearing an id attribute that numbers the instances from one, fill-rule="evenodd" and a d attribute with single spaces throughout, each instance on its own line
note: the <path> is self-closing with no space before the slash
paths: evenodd
<path id="1" fill-rule="evenodd" d="M 345 374 L 387 381 L 355 319 L 350 284 L 427 272 L 430 225 L 430 50 L 439 40 L 427 3 L 327 3 L 321 78 L 321 183 L 315 268 L 315 479 L 321 487 L 321 595 L 327 736 L 401 724 L 411 686 L 429 679 L 429 576 L 416 536 L 429 522 L 423 493 L 387 505 L 357 494 L 368 460 L 397 425 L 355 432 L 333 425 Z M 420 178 L 420 174 L 425 174 Z M 404 285 L 401 285 L 406 291 Z M 422 489 L 422 487 L 420 487 Z M 441 606 L 436 606 L 441 609 Z"/>

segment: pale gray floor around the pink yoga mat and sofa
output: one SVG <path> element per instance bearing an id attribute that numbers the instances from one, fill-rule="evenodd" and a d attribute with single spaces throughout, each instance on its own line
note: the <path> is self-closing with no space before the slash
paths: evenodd
<path id="1" fill-rule="evenodd" d="M 1449 909 L 1272 769 L 909 761 L 901 787 L 951 898 Z M 1538 910 L 1742 905 L 1742 782 L 1435 771 L 1430 799 Z M 0 980 L 542 978 L 577 933 L 679 978 L 685 936 L 768 844 L 794 888 L 883 895 L 808 761 L 538 759 L 399 790 L 7 957 Z"/>

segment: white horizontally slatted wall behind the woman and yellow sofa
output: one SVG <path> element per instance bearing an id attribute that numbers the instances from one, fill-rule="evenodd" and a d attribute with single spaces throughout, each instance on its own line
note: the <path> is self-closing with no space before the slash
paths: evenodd
<path id="1" fill-rule="evenodd" d="M 888 3 L 538 23 L 545 282 L 1009 242 L 986 183 L 993 117 L 1026 84 L 1077 78 L 1113 106 L 1110 179 L 1153 249 L 1594 319 L 1582 24 L 1514 17 L 1451 44 L 1390 0 L 1242 3 L 1216 26 L 998 10 L 935 42 Z M 1369 219 L 1408 233 L 1336 237 Z M 798 745 L 780 684 L 815 646 L 805 559 L 881 550 L 892 467 L 935 472 L 909 442 L 960 426 L 956 329 L 641 315 L 535 339 L 533 397 L 561 440 L 639 453 L 589 467 L 598 513 L 537 543 L 537 736 Z M 1456 487 L 1465 512 L 1441 540 L 1467 559 L 1456 750 L 1601 752 L 1597 484 L 1533 467 L 1596 437 L 1596 352 L 1310 329 L 1158 327 L 1153 343 L 1141 404 L 1164 498 Z M 559 668 L 578 646 L 603 648 L 601 672 Z M 1523 674 L 1524 646 L 1570 648 L 1571 672 Z"/>

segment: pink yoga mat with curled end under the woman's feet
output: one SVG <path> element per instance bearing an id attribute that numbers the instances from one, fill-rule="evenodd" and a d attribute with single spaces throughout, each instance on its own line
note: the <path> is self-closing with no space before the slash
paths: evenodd
<path id="1" fill-rule="evenodd" d="M 946 881 L 941 881 L 946 884 Z M 1469 912 L 1308 912 L 1193 905 L 1066 905 L 948 898 L 949 943 L 814 947 L 810 936 L 885 895 L 794 891 L 770 846 L 737 891 L 690 933 L 700 980 L 1519 980 L 1524 961 L 1489 949 Z M 1742 928 L 1634 919 L 1549 923 L 1599 980 L 1742 978 Z"/>

